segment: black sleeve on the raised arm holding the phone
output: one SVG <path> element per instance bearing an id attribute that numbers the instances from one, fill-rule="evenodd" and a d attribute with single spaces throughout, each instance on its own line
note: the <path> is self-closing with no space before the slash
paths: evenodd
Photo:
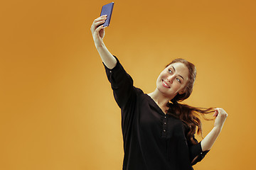
<path id="1" fill-rule="evenodd" d="M 105 64 L 103 64 L 105 66 L 107 79 L 110 81 L 113 90 L 114 99 L 119 108 L 124 110 L 126 107 L 129 107 L 129 103 L 134 97 L 135 90 L 132 77 L 125 72 L 117 57 L 115 58 L 117 60 L 117 64 L 113 69 L 108 69 Z"/>

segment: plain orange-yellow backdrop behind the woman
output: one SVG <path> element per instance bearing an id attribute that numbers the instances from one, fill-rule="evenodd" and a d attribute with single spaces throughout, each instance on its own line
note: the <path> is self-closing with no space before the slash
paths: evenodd
<path id="1" fill-rule="evenodd" d="M 110 2 L 1 1 L 0 169 L 122 169 L 120 111 L 90 32 Z M 134 86 L 154 91 L 182 57 L 198 71 L 183 103 L 228 113 L 194 169 L 255 169 L 255 1 L 114 3 L 104 40 Z M 212 128 L 203 121 L 204 136 Z"/>

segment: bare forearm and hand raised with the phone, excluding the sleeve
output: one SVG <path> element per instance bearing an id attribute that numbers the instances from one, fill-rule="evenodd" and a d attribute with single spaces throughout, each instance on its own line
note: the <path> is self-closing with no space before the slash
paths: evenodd
<path id="1" fill-rule="evenodd" d="M 110 53 L 110 51 L 107 50 L 107 47 L 103 42 L 103 38 L 105 36 L 105 28 L 103 28 L 103 25 L 100 26 L 100 24 L 105 23 L 106 19 L 107 16 L 100 16 L 99 18 L 95 19 L 90 30 L 92 31 L 92 38 L 95 42 L 95 47 L 100 54 L 102 62 L 107 68 L 113 69 L 117 64 L 117 60 Z"/>

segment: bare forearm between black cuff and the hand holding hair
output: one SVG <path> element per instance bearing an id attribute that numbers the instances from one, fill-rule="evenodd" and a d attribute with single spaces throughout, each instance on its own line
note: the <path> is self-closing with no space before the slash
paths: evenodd
<path id="1" fill-rule="evenodd" d="M 221 128 L 214 127 L 208 135 L 201 141 L 202 151 L 210 150 L 213 147 L 213 143 L 217 140 L 218 135 L 220 134 Z"/>

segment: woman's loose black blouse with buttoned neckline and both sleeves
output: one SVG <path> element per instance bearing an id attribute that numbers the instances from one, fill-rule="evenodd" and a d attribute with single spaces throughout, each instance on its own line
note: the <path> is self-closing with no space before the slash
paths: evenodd
<path id="1" fill-rule="evenodd" d="M 122 113 L 123 169 L 193 169 L 208 151 L 202 152 L 201 142 L 193 145 L 186 140 L 186 125 L 166 115 L 150 96 L 134 87 L 119 60 L 113 69 L 105 66 L 105 70 Z"/>

